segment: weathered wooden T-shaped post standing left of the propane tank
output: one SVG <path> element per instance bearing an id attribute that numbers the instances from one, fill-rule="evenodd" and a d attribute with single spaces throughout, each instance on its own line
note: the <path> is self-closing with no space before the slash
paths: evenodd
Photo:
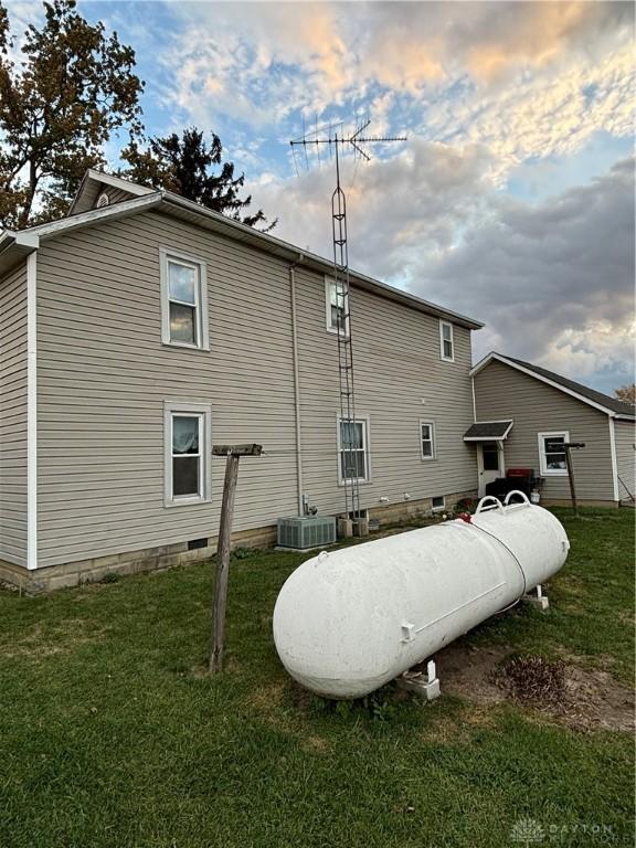
<path id="1" fill-rule="evenodd" d="M 227 570 L 230 568 L 230 548 L 232 541 L 232 513 L 234 495 L 239 478 L 239 459 L 242 456 L 261 456 L 262 445 L 214 445 L 212 456 L 226 456 L 225 483 L 221 504 L 219 542 L 216 545 L 216 580 L 214 583 L 214 606 L 212 614 L 212 649 L 210 651 L 210 674 L 215 675 L 223 668 L 223 647 L 225 642 L 225 602 L 227 600 Z"/>

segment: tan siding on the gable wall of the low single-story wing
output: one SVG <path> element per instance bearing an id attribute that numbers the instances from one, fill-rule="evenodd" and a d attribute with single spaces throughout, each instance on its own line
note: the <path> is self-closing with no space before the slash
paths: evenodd
<path id="1" fill-rule="evenodd" d="M 585 448 L 572 454 L 576 492 L 582 500 L 614 500 L 607 415 L 501 362 L 475 377 L 477 421 L 512 418 L 504 443 L 507 468 L 530 467 L 540 474 L 538 434 L 568 431 Z M 544 498 L 569 498 L 566 476 L 545 477 Z"/>

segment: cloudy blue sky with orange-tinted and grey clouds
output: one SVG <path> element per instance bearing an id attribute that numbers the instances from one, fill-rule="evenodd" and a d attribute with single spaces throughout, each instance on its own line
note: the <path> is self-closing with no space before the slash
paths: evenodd
<path id="1" fill-rule="evenodd" d="M 15 21 L 40 8 L 9 4 Z M 346 163 L 351 265 L 484 320 L 475 359 L 633 380 L 632 3 L 80 9 L 136 49 L 148 131 L 219 134 L 276 235 L 331 254 L 332 162 L 288 142 L 370 117 L 409 139 Z"/>

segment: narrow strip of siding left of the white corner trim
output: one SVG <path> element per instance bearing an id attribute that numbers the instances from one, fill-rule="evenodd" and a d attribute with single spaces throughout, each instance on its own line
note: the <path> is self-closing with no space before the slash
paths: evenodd
<path id="1" fill-rule="evenodd" d="M 26 268 L 0 280 L 0 559 L 26 564 Z"/>

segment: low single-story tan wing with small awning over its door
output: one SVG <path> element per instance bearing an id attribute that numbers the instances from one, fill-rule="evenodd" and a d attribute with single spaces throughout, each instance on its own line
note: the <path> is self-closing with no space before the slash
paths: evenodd
<path id="1" fill-rule="evenodd" d="M 467 436 L 477 446 L 479 494 L 508 468 L 532 468 L 543 480 L 542 501 L 569 502 L 562 445 L 584 442 L 584 448 L 572 452 L 579 500 L 633 502 L 633 406 L 500 353 L 489 353 L 470 373 L 478 424 Z"/>

